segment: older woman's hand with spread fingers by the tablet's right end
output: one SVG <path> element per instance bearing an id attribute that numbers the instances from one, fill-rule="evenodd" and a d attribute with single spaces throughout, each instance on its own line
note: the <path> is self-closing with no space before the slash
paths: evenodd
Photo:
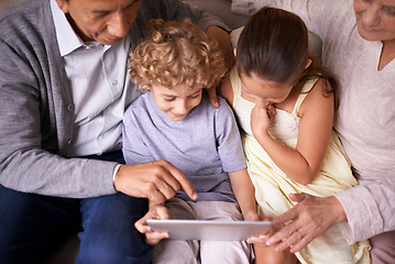
<path id="1" fill-rule="evenodd" d="M 343 207 L 334 196 L 290 194 L 289 198 L 298 204 L 273 220 L 275 226 L 289 223 L 266 242 L 267 245 L 278 243 L 276 251 L 290 248 L 290 253 L 296 253 L 333 224 L 347 221 Z"/>

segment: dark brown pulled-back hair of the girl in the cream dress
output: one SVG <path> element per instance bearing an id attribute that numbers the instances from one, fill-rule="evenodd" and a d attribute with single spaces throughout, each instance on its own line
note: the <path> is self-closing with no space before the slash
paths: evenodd
<path id="1" fill-rule="evenodd" d="M 310 66 L 305 69 L 307 59 Z M 288 11 L 264 7 L 254 13 L 240 34 L 237 50 L 239 73 L 275 82 L 305 82 L 322 78 L 325 96 L 334 92 L 337 84 L 322 67 L 319 56 L 308 50 L 308 31 L 303 20 Z"/>

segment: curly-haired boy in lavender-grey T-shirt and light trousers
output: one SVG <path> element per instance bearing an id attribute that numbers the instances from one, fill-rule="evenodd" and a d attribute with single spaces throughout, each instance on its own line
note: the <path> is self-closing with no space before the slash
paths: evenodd
<path id="1" fill-rule="evenodd" d="M 198 199 L 178 191 L 164 205 L 172 219 L 259 220 L 232 110 L 224 99 L 212 107 L 205 92 L 227 72 L 218 45 L 189 20 L 150 26 L 131 53 L 131 78 L 146 92 L 124 114 L 127 164 L 165 160 L 188 176 Z M 136 228 L 149 244 L 161 239 L 144 221 Z M 245 241 L 162 240 L 152 262 L 248 264 L 250 253 Z"/>

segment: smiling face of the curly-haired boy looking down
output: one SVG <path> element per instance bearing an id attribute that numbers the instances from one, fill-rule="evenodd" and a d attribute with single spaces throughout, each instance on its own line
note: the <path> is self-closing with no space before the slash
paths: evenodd
<path id="1" fill-rule="evenodd" d="M 184 120 L 188 112 L 200 103 L 202 95 L 201 87 L 190 89 L 184 85 L 172 89 L 152 86 L 150 90 L 156 107 L 173 121 Z"/>

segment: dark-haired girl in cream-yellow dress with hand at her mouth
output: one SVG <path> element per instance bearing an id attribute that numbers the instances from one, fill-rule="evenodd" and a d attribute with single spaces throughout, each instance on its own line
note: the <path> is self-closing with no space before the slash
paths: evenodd
<path id="1" fill-rule="evenodd" d="M 263 8 L 250 18 L 238 42 L 237 65 L 219 92 L 243 131 L 261 216 L 274 218 L 292 208 L 289 194 L 330 196 L 358 184 L 332 130 L 334 89 L 333 79 L 309 56 L 307 29 L 297 15 Z M 337 227 L 296 257 L 257 243 L 254 250 L 255 263 L 370 262 L 367 242 L 349 245 Z"/>

